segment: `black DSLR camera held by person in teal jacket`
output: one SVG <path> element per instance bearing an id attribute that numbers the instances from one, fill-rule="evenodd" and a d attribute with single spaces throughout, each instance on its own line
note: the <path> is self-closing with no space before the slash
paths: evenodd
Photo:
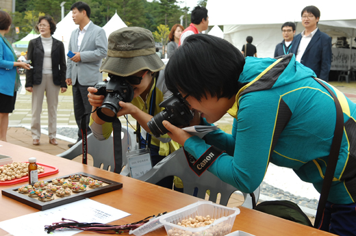
<path id="1" fill-rule="evenodd" d="M 162 124 L 163 120 L 167 120 L 178 127 L 188 126 L 194 116 L 188 105 L 184 103 L 181 94 L 170 95 L 168 99 L 160 103 L 160 107 L 164 107 L 165 109 L 147 122 L 149 129 L 155 137 L 168 133 L 168 130 Z"/>

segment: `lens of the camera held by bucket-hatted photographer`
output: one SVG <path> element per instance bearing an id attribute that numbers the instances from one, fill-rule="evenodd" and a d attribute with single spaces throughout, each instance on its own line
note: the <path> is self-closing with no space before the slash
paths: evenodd
<path id="1" fill-rule="evenodd" d="M 118 102 L 122 101 L 117 94 L 107 94 L 103 101 L 103 105 L 97 110 L 97 115 L 105 122 L 114 122 L 116 114 L 120 111 L 121 107 Z"/>

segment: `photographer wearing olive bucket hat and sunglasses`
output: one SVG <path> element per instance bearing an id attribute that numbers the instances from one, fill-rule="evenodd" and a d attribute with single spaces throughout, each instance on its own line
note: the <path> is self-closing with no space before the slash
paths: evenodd
<path id="1" fill-rule="evenodd" d="M 133 87 L 133 100 L 131 103 L 120 101 L 119 105 L 122 109 L 117 116 L 130 114 L 138 121 L 143 128 L 141 129 L 141 148 L 147 145 L 147 137 L 149 137 L 148 140 L 151 138 L 150 150 L 153 166 L 170 152 L 179 148 L 179 144 L 171 141 L 168 135 L 162 135 L 158 139 L 147 135 L 147 132 L 150 132 L 147 122 L 164 109 L 159 104 L 172 94 L 164 83 L 163 69 L 164 63 L 155 53 L 155 40 L 151 31 L 140 27 L 125 27 L 110 34 L 107 57 L 100 71 L 122 77 Z M 89 102 L 94 111 L 96 107 L 101 107 L 105 97 L 95 95 L 96 88 L 90 87 L 88 92 Z M 97 112 L 91 115 L 90 128 L 98 140 L 107 139 L 112 133 L 112 123 L 101 120 Z M 163 179 L 157 185 L 172 189 L 173 176 Z"/>

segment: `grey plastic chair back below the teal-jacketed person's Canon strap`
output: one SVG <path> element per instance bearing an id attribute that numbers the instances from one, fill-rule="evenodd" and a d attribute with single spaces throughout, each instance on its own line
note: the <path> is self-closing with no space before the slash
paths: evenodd
<path id="1" fill-rule="evenodd" d="M 197 176 L 188 165 L 183 148 L 179 148 L 174 153 L 171 153 L 162 161 L 157 163 L 149 172 L 141 176 L 139 179 L 148 183 L 157 183 L 166 176 L 178 176 L 183 181 L 183 192 L 193 195 L 194 189 L 197 188 L 198 198 L 205 199 L 205 192 L 209 189 L 209 200 L 216 202 L 216 198 L 220 193 L 220 205 L 227 205 L 229 198 L 233 192 L 239 191 L 236 187 L 229 185 L 218 179 L 214 174 L 205 171 L 201 176 Z M 252 209 L 252 198 L 249 194 L 244 195 L 244 204 L 242 206 Z M 259 187 L 255 190 L 255 201 L 259 198 Z"/>

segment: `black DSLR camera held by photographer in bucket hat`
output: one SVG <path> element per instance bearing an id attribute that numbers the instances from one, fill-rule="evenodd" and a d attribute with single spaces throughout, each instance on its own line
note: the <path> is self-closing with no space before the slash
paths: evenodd
<path id="1" fill-rule="evenodd" d="M 105 122 L 114 122 L 116 114 L 122 107 L 118 105 L 119 101 L 129 103 L 133 99 L 133 88 L 122 77 L 109 75 L 110 81 L 96 83 L 96 95 L 104 95 L 103 105 L 97 109 L 97 115 Z"/>

